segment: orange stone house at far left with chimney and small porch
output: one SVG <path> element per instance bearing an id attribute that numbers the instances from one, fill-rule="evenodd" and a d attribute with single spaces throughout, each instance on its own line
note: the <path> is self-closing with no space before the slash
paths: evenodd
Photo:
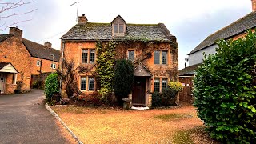
<path id="1" fill-rule="evenodd" d="M 55 71 L 59 58 L 59 50 L 51 48 L 50 42 L 40 45 L 22 38 L 17 27 L 10 27 L 9 34 L 0 34 L 1 94 L 29 91 L 32 75 Z"/>

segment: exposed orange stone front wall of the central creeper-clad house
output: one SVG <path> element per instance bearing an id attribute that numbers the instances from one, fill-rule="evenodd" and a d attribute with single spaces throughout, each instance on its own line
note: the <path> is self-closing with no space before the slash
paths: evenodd
<path id="1" fill-rule="evenodd" d="M 65 58 L 73 60 L 75 66 L 94 66 L 93 64 L 82 64 L 82 49 L 95 49 L 96 42 L 65 42 Z M 155 42 L 145 44 L 143 42 L 130 42 L 130 44 L 119 44 L 116 47 L 116 58 L 127 58 L 127 50 L 135 50 L 135 60 L 141 59 L 142 63 L 154 75 L 151 78 L 151 90 L 154 90 L 154 78 L 168 78 L 169 81 L 178 81 L 178 49 L 170 46 L 170 42 Z M 154 50 L 166 50 L 167 65 L 154 64 Z M 97 51 L 96 51 L 97 53 Z M 60 63 L 62 58 L 60 59 Z M 92 69 L 93 71 L 95 69 Z M 90 75 L 91 73 L 88 73 Z M 83 75 L 83 74 L 82 74 Z M 80 87 L 79 77 L 78 86 Z M 90 92 L 91 93 L 91 92 Z"/>

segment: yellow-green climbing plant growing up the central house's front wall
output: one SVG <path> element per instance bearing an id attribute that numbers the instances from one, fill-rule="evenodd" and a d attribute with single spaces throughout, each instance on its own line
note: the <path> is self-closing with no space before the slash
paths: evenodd
<path id="1" fill-rule="evenodd" d="M 116 43 L 113 41 L 106 43 L 97 42 L 96 44 L 96 73 L 100 79 L 101 88 L 98 92 L 101 95 L 102 101 L 107 101 L 113 89 L 115 47 Z"/>

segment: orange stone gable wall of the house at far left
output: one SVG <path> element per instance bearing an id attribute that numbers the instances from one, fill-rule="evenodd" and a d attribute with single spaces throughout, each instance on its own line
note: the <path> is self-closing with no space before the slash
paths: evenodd
<path id="1" fill-rule="evenodd" d="M 30 90 L 31 61 L 30 54 L 22 44 L 20 38 L 11 37 L 0 43 L 0 62 L 11 62 L 18 70 L 17 81 L 22 81 L 22 91 Z M 6 82 L 10 82 L 10 77 Z M 9 85 L 12 85 L 11 82 Z M 15 86 L 13 86 L 15 87 Z M 7 94 L 14 93 L 14 88 L 7 90 Z"/>

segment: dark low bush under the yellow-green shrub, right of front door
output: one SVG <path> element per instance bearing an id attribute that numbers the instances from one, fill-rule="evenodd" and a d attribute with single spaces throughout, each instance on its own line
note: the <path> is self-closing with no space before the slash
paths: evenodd
<path id="1" fill-rule="evenodd" d="M 177 90 L 170 89 L 167 87 L 166 89 L 162 90 L 162 106 L 177 106 L 176 95 L 178 94 Z"/>

